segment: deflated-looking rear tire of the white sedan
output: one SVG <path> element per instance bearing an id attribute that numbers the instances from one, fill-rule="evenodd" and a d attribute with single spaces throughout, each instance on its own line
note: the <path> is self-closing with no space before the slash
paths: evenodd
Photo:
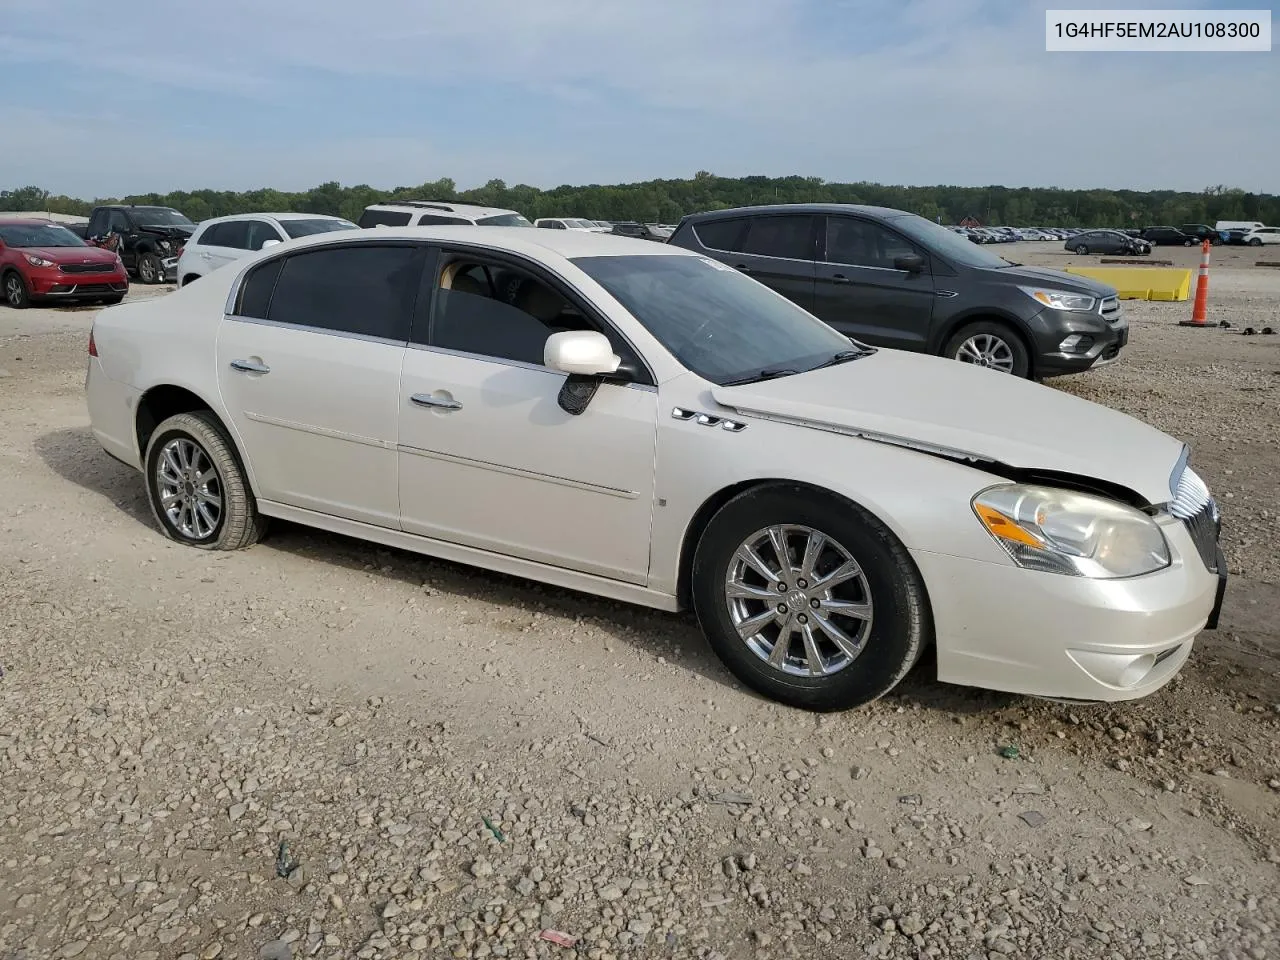
<path id="1" fill-rule="evenodd" d="M 174 444 L 186 449 L 188 456 L 184 458 L 180 451 L 174 451 Z M 195 461 L 189 456 L 192 447 L 200 453 Z M 204 484 L 204 493 L 216 498 L 216 516 L 211 517 L 207 502 L 202 512 L 175 506 L 177 517 L 169 515 L 163 503 L 159 475 L 160 461 L 166 451 L 174 454 L 168 471 L 170 476 L 182 477 L 183 467 L 192 462 L 193 468 L 206 476 L 212 470 L 214 476 Z M 143 465 L 151 513 L 170 540 L 205 550 L 239 550 L 257 543 L 266 532 L 266 517 L 257 512 L 257 502 L 244 479 L 239 457 L 223 425 L 210 411 L 178 413 L 161 422 L 147 443 Z M 187 488 L 189 490 L 191 486 Z"/>

